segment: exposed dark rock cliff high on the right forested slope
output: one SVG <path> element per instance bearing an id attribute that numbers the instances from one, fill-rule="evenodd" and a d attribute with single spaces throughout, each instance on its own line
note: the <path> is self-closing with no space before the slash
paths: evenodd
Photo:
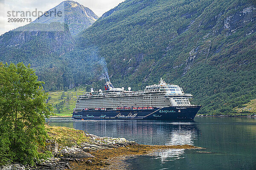
<path id="1" fill-rule="evenodd" d="M 188 29 L 198 29 L 202 22 L 204 22 L 202 19 L 198 20 Z M 214 25 L 211 26 L 212 23 L 214 23 Z M 240 34 L 239 39 L 242 39 L 253 34 L 256 31 L 256 8 L 250 3 L 236 6 L 229 14 L 224 14 L 224 11 L 221 11 L 204 24 L 210 26 L 211 29 L 209 29 L 209 33 L 198 39 L 198 44 L 200 45 L 194 46 L 192 51 L 189 51 L 186 60 L 181 64 L 185 66 L 183 75 L 186 74 L 193 63 L 199 62 L 202 59 L 209 59 L 212 63 L 223 64 L 221 58 L 226 58 L 225 60 L 227 60 L 231 55 L 238 55 L 237 52 L 243 48 L 243 43 L 236 46 L 236 48 L 234 48 L 236 50 L 232 51 L 231 54 L 225 56 L 223 51 L 225 48 L 229 48 L 229 44 L 220 43 L 217 47 L 214 47 L 214 44 L 216 44 L 215 37 L 222 35 L 224 36 L 224 40 L 225 38 L 232 39 L 233 36 Z M 216 58 L 216 56 L 218 56 L 218 58 Z M 244 64 L 247 63 L 248 60 L 244 62 Z M 174 65 L 174 68 L 179 68 L 181 65 Z M 234 65 L 234 67 L 236 66 Z"/>

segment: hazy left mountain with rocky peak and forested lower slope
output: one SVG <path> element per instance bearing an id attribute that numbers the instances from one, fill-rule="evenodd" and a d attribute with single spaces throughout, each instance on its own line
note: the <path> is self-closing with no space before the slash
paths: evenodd
<path id="1" fill-rule="evenodd" d="M 75 85 L 69 66 L 73 64 L 64 54 L 73 50 L 74 35 L 98 18 L 89 8 L 74 1 L 64 1 L 48 12 L 55 9 L 61 11 L 61 17 L 43 15 L 33 23 L 0 36 L 0 61 L 30 63 L 36 68 L 39 79 L 46 82 L 47 91 Z M 93 61 L 90 63 L 87 66 L 97 66 Z"/>

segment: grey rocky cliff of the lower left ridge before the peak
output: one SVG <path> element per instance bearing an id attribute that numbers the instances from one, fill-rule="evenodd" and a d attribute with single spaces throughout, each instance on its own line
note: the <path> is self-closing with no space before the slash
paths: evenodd
<path id="1" fill-rule="evenodd" d="M 50 44 L 50 51 L 54 52 L 61 48 L 64 42 L 73 42 L 73 36 L 68 27 L 61 23 L 30 23 L 1 36 L 0 45 L 3 50 L 8 51 L 9 48 L 29 48 L 29 42 L 36 41 L 39 43 L 40 40 Z M 72 48 L 71 46 L 67 50 Z"/>

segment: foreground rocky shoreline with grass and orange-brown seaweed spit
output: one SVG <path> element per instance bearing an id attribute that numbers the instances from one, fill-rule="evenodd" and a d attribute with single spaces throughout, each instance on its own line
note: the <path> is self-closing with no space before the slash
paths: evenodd
<path id="1" fill-rule="evenodd" d="M 52 129 L 53 127 L 48 127 Z M 46 141 L 45 150 L 52 153 L 52 157 L 47 160 L 38 161 L 35 166 L 24 166 L 22 164 L 9 164 L 1 167 L 1 170 L 98 170 L 108 169 L 111 165 L 110 160 L 119 156 L 143 155 L 152 150 L 159 149 L 195 149 L 191 145 L 143 145 L 134 141 L 128 141 L 125 138 L 99 137 L 93 134 L 84 133 L 82 130 L 75 130 L 67 127 L 54 127 L 61 131 L 70 131 L 67 136 L 80 136 L 79 139 L 73 140 L 72 143 L 63 144 L 61 138 L 54 132 L 49 131 L 50 139 Z M 75 133 L 74 133 L 75 132 Z M 60 136 L 62 134 L 59 134 Z M 72 137 L 73 137 L 72 136 Z M 54 138 L 54 139 L 53 139 Z M 63 136 L 62 136 L 63 138 Z M 58 142 L 57 142 L 58 141 Z M 69 145 L 69 146 L 67 146 Z M 112 164 L 112 167 L 116 166 Z"/>

